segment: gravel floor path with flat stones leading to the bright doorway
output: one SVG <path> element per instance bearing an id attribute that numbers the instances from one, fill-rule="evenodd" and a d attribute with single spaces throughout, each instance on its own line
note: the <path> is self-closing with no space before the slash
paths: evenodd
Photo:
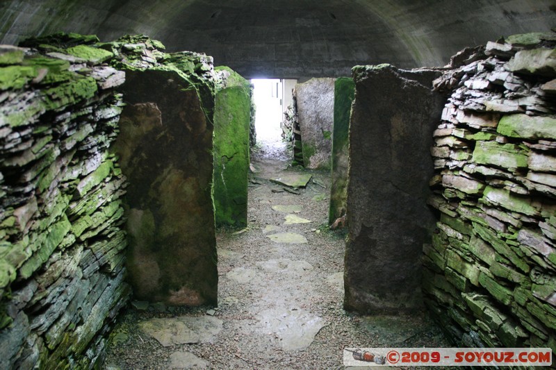
<path id="1" fill-rule="evenodd" d="M 343 310 L 345 243 L 326 227 L 329 174 L 287 168 L 286 158 L 259 149 L 249 226 L 217 233 L 219 307 L 135 303 L 111 335 L 106 369 L 343 369 L 345 347 L 449 346 L 425 314 Z M 269 181 L 284 174 L 313 180 L 291 194 Z M 275 241 L 284 235 L 293 242 Z"/>

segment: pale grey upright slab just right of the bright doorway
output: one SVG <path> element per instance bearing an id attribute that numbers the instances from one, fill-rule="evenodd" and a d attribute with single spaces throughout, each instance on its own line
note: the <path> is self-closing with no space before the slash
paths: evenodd
<path id="1" fill-rule="evenodd" d="M 311 78 L 295 85 L 303 163 L 310 169 L 330 169 L 334 124 L 334 78 Z"/>

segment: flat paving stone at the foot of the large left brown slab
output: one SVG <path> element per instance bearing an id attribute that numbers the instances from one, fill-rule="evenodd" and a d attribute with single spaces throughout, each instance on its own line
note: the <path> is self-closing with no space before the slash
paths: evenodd
<path id="1" fill-rule="evenodd" d="M 140 330 L 165 347 L 211 342 L 222 330 L 222 320 L 202 317 L 155 317 L 139 323 Z"/>

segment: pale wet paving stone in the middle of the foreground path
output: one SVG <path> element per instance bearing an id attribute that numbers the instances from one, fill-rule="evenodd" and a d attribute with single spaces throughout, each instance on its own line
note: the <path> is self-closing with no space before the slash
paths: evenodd
<path id="1" fill-rule="evenodd" d="M 276 335 L 284 351 L 309 347 L 315 335 L 325 326 L 322 317 L 304 310 L 264 310 L 256 317 L 266 334 L 270 332 Z"/>

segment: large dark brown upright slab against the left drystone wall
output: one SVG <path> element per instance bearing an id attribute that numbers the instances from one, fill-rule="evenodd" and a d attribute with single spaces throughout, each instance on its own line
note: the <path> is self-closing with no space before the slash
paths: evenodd
<path id="1" fill-rule="evenodd" d="M 137 299 L 216 303 L 211 87 L 171 67 L 130 69 L 113 150 L 129 180 L 128 268 Z"/>

